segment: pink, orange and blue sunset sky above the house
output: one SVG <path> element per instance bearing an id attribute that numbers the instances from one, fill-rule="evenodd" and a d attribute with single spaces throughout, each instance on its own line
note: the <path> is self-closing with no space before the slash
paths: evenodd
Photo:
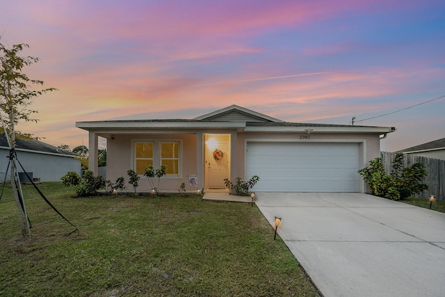
<path id="1" fill-rule="evenodd" d="M 51 145 L 75 122 L 195 118 L 237 104 L 288 122 L 396 127 L 395 151 L 445 137 L 445 1 L 0 0 L 27 43 Z M 384 115 L 384 116 L 380 116 Z M 372 118 L 372 119 L 369 119 Z M 369 119 L 369 120 L 367 120 Z"/>

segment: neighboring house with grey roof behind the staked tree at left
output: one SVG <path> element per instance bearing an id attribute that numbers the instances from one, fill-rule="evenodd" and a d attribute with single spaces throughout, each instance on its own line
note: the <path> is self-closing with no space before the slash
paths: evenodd
<path id="1" fill-rule="evenodd" d="M 77 154 L 65 152 L 57 147 L 36 140 L 15 140 L 17 159 L 28 172 L 29 177 L 40 182 L 60 182 L 60 177 L 68 171 L 81 173 L 81 163 L 75 159 Z M 5 180 L 6 169 L 9 162 L 9 145 L 5 134 L 0 134 L 0 182 Z M 29 182 L 22 168 L 17 163 L 17 172 L 22 182 Z M 10 168 L 10 167 L 9 167 Z M 6 180 L 10 180 L 10 169 Z"/>

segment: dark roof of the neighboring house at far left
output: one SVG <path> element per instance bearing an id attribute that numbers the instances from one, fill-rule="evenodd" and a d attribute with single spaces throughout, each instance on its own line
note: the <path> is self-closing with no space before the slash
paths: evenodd
<path id="1" fill-rule="evenodd" d="M 59 156 L 78 156 L 77 154 L 74 154 L 74 152 L 67 152 L 53 145 L 49 145 L 48 143 L 36 141 L 35 139 L 15 138 L 15 143 L 16 150 L 38 152 L 44 154 L 56 154 Z M 0 148 L 9 150 L 9 144 L 5 134 L 0 134 Z"/>

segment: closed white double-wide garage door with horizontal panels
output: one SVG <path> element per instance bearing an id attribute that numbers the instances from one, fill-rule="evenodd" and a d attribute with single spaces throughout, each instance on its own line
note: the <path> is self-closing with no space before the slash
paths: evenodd
<path id="1" fill-rule="evenodd" d="M 246 178 L 253 191 L 357 192 L 357 143 L 248 143 Z"/>

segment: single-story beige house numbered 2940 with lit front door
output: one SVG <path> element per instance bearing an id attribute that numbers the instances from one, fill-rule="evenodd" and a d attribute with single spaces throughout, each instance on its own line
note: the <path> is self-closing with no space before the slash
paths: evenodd
<path id="1" fill-rule="evenodd" d="M 394 127 L 284 122 L 241 106 L 228 106 L 192 120 L 108 120 L 76 122 L 89 131 L 89 168 L 97 173 L 98 136 L 107 139 L 106 176 L 128 180 L 168 166 L 162 191 L 178 191 L 197 175 L 205 191 L 258 175 L 253 191 L 363 192 L 357 170 L 380 156 L 380 138 Z M 220 160 L 213 152 L 221 150 Z M 142 177 L 138 191 L 150 191 Z"/>

